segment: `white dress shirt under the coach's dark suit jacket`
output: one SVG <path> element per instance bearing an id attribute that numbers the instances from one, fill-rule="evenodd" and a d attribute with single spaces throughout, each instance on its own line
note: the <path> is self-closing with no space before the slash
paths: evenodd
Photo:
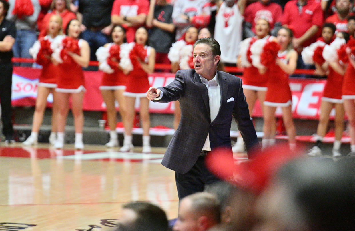
<path id="1" fill-rule="evenodd" d="M 200 75 L 199 75 L 200 76 Z M 209 103 L 209 115 L 211 116 L 211 122 L 216 118 L 219 108 L 221 106 L 221 93 L 219 88 L 219 82 L 217 78 L 217 72 L 213 79 L 207 81 L 207 79 L 200 76 L 202 83 L 208 89 L 208 103 Z M 211 151 L 211 145 L 209 144 L 209 135 L 207 134 L 206 142 L 204 142 L 203 151 Z"/>

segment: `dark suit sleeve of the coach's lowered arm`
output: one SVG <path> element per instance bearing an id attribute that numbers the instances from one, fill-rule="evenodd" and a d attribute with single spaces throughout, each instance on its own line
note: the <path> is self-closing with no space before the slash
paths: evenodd
<path id="1" fill-rule="evenodd" d="M 238 125 L 238 130 L 244 139 L 245 147 L 250 158 L 251 148 L 258 148 L 259 141 L 256 136 L 253 120 L 249 115 L 248 104 L 245 100 L 241 81 L 237 93 L 237 100 L 234 104 L 233 117 Z"/>

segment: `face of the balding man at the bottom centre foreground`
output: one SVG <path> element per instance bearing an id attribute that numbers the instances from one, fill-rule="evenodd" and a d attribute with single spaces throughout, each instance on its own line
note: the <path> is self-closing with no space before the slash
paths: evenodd
<path id="1" fill-rule="evenodd" d="M 198 231 L 196 214 L 191 211 L 191 200 L 182 199 L 179 205 L 178 220 L 176 220 L 174 231 Z"/>

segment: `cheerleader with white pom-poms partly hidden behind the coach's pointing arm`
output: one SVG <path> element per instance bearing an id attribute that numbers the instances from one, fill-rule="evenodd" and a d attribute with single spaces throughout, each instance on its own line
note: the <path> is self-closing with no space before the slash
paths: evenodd
<path id="1" fill-rule="evenodd" d="M 189 27 L 185 33 L 184 40 L 179 40 L 171 46 L 168 58 L 171 61 L 171 71 L 176 73 L 178 70 L 193 68 L 192 46 L 196 42 L 198 31 L 195 27 Z M 175 101 L 174 110 L 174 129 L 176 130 L 180 122 L 180 103 Z"/>

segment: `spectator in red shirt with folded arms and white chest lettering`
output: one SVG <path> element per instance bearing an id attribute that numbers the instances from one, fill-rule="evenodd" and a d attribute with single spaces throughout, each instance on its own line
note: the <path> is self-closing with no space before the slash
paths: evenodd
<path id="1" fill-rule="evenodd" d="M 133 42 L 138 27 L 143 26 L 149 12 L 148 0 L 115 0 L 111 11 L 111 23 L 126 29 L 127 42 Z"/>

